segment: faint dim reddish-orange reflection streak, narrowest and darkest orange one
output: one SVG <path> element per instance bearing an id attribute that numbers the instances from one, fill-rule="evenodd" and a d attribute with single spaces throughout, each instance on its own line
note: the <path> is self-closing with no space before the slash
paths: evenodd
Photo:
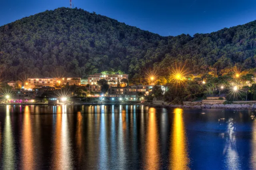
<path id="1" fill-rule="evenodd" d="M 76 143 L 77 143 L 77 150 L 78 150 L 78 162 L 82 161 L 82 114 L 80 111 L 77 112 L 77 127 L 76 127 Z"/>

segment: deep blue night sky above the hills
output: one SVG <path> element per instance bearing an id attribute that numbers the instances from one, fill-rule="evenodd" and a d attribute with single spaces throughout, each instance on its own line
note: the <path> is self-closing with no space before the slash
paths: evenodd
<path id="1" fill-rule="evenodd" d="M 114 18 L 163 36 L 210 33 L 256 20 L 256 0 L 72 0 L 74 7 Z M 45 10 L 68 7 L 69 0 L 5 0 L 0 25 Z"/>

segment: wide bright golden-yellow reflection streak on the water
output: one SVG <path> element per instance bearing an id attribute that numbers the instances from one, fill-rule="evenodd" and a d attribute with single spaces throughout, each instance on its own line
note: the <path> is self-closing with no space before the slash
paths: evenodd
<path id="1" fill-rule="evenodd" d="M 182 118 L 182 109 L 174 109 L 174 123 L 170 150 L 171 170 L 188 170 L 190 162 L 186 146 L 186 134 Z"/>

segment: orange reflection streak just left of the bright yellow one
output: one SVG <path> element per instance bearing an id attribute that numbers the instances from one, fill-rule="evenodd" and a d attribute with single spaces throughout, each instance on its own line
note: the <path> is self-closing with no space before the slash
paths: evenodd
<path id="1" fill-rule="evenodd" d="M 148 118 L 148 135 L 146 141 L 146 169 L 159 169 L 158 153 L 158 131 L 156 122 L 156 109 L 149 109 Z"/>

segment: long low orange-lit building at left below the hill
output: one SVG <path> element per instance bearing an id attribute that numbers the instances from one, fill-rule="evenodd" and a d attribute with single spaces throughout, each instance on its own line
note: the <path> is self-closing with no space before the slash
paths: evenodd
<path id="1" fill-rule="evenodd" d="M 28 78 L 28 82 L 26 82 L 25 88 L 37 88 L 42 86 L 53 87 L 55 84 L 81 85 L 81 78 Z"/>

